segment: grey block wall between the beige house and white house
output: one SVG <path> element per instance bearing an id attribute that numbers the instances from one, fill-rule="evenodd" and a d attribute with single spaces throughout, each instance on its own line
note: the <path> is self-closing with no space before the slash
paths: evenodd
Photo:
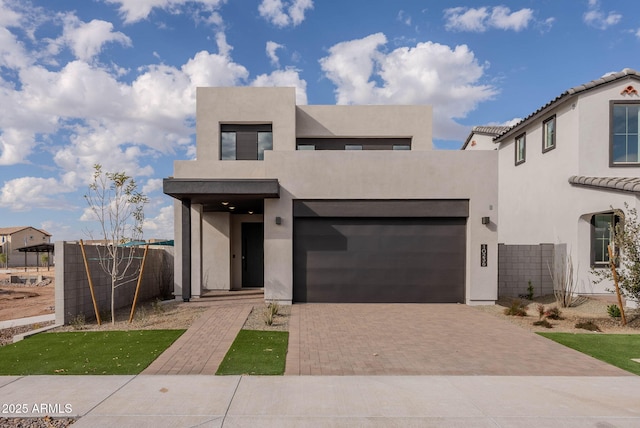
<path id="1" fill-rule="evenodd" d="M 527 294 L 529 281 L 534 296 L 553 294 L 549 268 L 554 266 L 554 244 L 498 244 L 498 296 Z"/>

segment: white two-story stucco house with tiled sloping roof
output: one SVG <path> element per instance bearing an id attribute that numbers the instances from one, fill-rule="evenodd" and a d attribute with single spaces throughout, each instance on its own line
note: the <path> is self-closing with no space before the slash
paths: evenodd
<path id="1" fill-rule="evenodd" d="M 570 256 L 578 292 L 607 293 L 614 210 L 640 209 L 640 74 L 625 69 L 569 89 L 495 139 L 499 152 L 501 294 Z M 473 134 L 473 133 L 472 133 Z M 470 139 L 475 137 L 471 135 Z"/>

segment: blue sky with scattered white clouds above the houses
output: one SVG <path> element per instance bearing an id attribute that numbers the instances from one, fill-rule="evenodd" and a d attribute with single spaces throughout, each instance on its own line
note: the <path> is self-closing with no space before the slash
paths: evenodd
<path id="1" fill-rule="evenodd" d="M 197 86 L 294 86 L 299 104 L 430 104 L 434 145 L 640 69 L 628 0 L 0 0 L 0 227 L 96 230 L 92 166 L 162 178 L 195 155 Z"/>

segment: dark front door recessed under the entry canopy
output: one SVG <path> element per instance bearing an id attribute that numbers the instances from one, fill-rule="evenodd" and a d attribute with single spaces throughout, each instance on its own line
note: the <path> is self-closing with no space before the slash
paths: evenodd
<path id="1" fill-rule="evenodd" d="M 263 223 L 242 223 L 242 286 L 264 286 Z"/>

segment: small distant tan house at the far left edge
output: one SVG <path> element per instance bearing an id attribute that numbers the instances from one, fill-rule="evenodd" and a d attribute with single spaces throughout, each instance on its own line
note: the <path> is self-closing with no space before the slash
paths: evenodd
<path id="1" fill-rule="evenodd" d="M 0 227 L 0 253 L 7 255 L 8 267 L 42 265 L 41 260 L 38 259 L 38 253 L 19 250 L 50 242 L 51 234 L 42 229 L 31 226 Z"/>

